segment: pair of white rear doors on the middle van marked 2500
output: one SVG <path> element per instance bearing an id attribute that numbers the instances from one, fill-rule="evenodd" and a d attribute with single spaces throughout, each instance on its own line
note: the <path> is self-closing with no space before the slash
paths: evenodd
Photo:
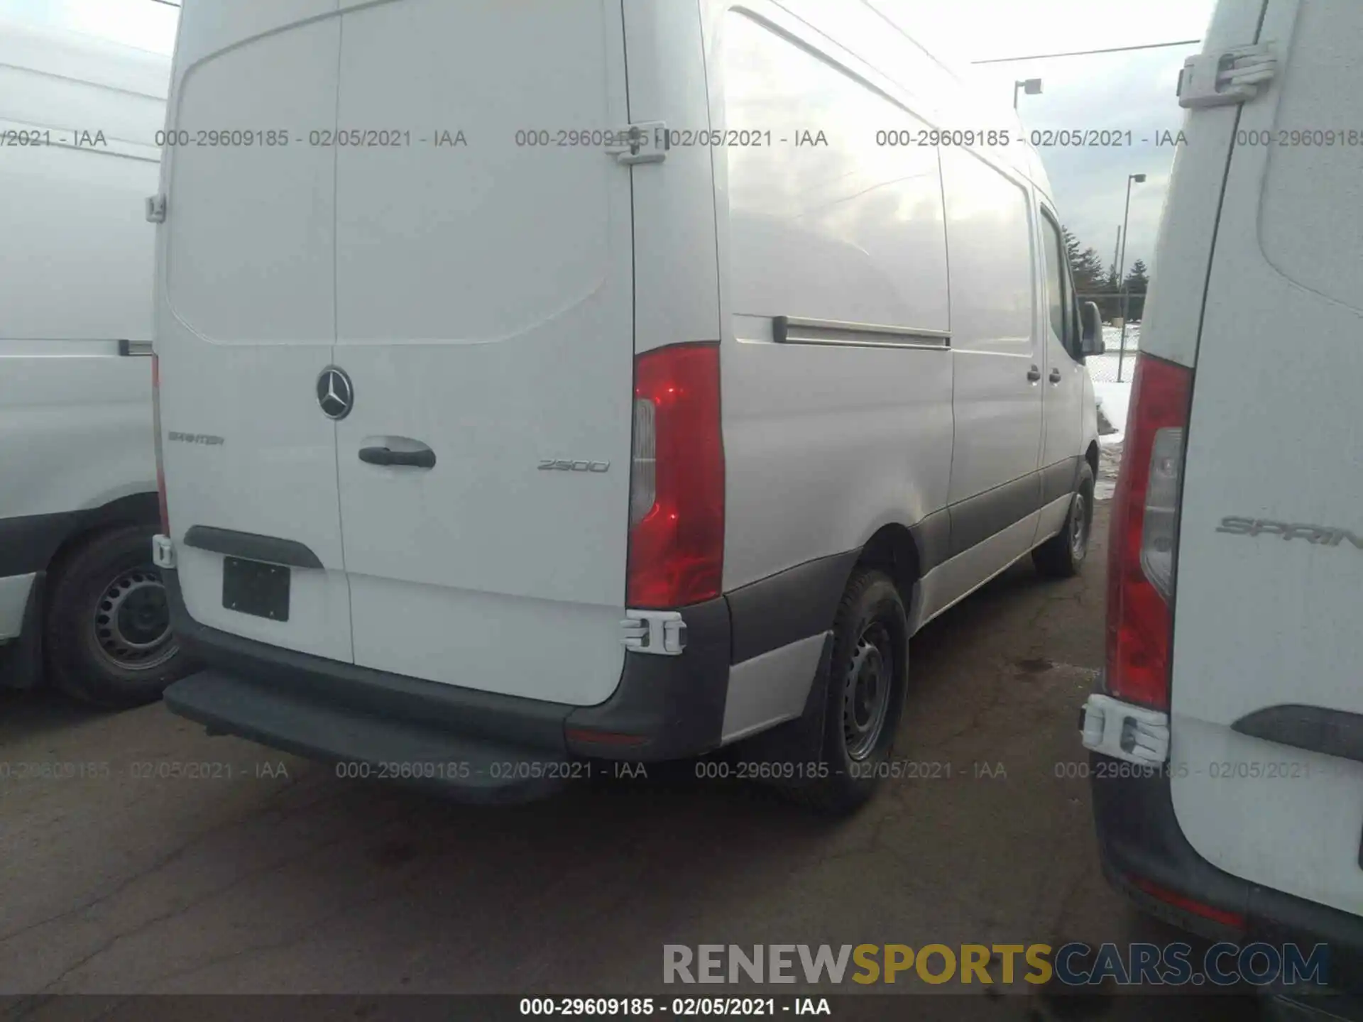
<path id="1" fill-rule="evenodd" d="M 597 703 L 624 655 L 630 170 L 517 129 L 628 123 L 619 4 L 293 14 L 316 16 L 181 22 L 176 124 L 294 140 L 168 161 L 162 422 L 225 437 L 168 444 L 177 537 L 286 538 L 324 568 L 294 571 L 290 620 L 270 621 L 222 606 L 222 555 L 204 553 L 181 567 L 187 608 L 360 666 Z M 541 37 L 556 44 L 525 45 Z M 488 97 L 491 80 L 521 87 Z M 386 124 L 410 138 L 309 142 Z M 331 362 L 354 384 L 337 422 L 315 394 Z M 421 446 L 435 471 L 358 459 Z M 562 458 L 609 470 L 538 470 Z"/>

